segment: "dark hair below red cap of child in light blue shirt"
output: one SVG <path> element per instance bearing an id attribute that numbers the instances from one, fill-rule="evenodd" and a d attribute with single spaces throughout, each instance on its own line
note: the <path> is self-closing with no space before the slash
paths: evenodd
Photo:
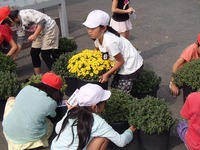
<path id="1" fill-rule="evenodd" d="M 63 94 L 59 90 L 57 90 L 53 87 L 50 87 L 42 82 L 41 83 L 31 83 L 30 85 L 44 91 L 45 93 L 47 93 L 47 96 L 51 97 L 53 100 L 55 100 L 57 102 L 61 101 L 63 98 Z"/>

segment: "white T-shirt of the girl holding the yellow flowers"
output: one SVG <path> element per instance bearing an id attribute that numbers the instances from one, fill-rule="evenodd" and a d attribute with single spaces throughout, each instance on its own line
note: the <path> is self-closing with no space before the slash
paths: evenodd
<path id="1" fill-rule="evenodd" d="M 118 37 L 106 31 L 103 36 L 102 45 L 99 43 L 98 39 L 94 41 L 94 44 L 102 53 L 108 52 L 109 59 L 113 61 L 116 61 L 114 56 L 118 53 L 122 53 L 125 62 L 118 72 L 121 75 L 132 74 L 143 65 L 142 56 L 131 42 L 123 36 Z"/>

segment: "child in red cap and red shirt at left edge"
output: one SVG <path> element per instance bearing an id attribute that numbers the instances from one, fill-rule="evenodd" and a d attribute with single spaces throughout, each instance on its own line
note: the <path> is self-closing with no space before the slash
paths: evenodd
<path id="1" fill-rule="evenodd" d="M 6 56 L 12 56 L 15 60 L 18 46 L 13 40 L 11 29 L 15 23 L 8 16 L 10 14 L 8 6 L 1 7 L 0 12 L 0 51 L 6 54 Z"/>

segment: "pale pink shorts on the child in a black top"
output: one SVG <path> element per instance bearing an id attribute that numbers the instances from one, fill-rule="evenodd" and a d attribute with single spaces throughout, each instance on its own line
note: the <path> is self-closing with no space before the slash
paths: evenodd
<path id="1" fill-rule="evenodd" d="M 123 33 L 132 29 L 132 23 L 130 19 L 123 22 L 117 22 L 111 18 L 110 26 L 119 33 Z"/>

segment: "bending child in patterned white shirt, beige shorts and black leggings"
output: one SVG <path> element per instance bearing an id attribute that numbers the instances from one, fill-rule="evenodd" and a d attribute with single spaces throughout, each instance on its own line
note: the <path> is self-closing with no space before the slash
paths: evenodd
<path id="1" fill-rule="evenodd" d="M 9 16 L 15 21 L 19 30 L 33 32 L 28 40 L 32 41 L 30 54 L 34 73 L 41 74 L 40 53 L 48 69 L 51 70 L 54 62 L 52 50 L 58 49 L 59 42 L 59 28 L 55 20 L 33 9 L 14 10 Z M 17 33 L 23 35 L 21 32 Z"/>

